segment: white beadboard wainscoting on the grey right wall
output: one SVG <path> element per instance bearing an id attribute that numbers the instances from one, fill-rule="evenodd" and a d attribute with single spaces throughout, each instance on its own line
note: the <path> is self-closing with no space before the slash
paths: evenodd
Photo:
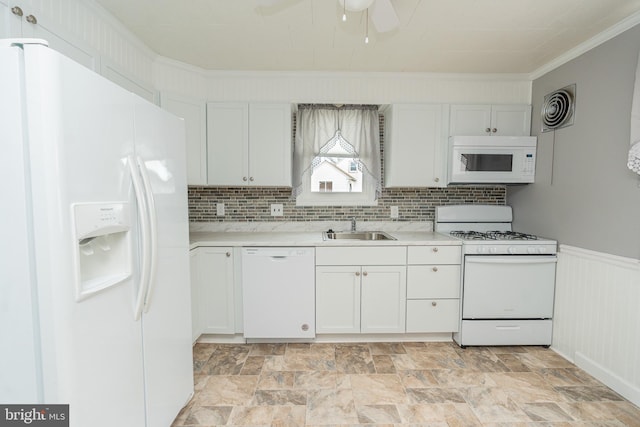
<path id="1" fill-rule="evenodd" d="M 640 406 L 640 260 L 560 245 L 552 348 Z"/>

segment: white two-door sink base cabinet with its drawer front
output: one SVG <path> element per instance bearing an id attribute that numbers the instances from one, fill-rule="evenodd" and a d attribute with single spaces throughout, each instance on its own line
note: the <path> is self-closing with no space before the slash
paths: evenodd
<path id="1" fill-rule="evenodd" d="M 316 248 L 317 334 L 404 333 L 405 310 L 406 247 Z"/>

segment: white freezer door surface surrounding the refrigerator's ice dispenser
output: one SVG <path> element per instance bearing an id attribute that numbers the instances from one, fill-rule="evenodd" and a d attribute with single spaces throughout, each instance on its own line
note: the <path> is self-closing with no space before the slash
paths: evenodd
<path id="1" fill-rule="evenodd" d="M 87 202 L 135 209 L 125 162 L 132 95 L 45 47 L 25 46 L 24 57 L 42 403 L 70 404 L 77 426 L 143 426 L 137 273 L 77 300 L 72 220 L 73 206 Z M 129 232 L 135 253 L 135 224 Z"/>

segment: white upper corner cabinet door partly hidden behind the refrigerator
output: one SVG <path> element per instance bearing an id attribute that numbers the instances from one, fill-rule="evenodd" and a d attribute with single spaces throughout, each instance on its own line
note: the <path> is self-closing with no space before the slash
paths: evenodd
<path id="1" fill-rule="evenodd" d="M 162 93 L 160 105 L 184 119 L 187 138 L 187 184 L 207 184 L 207 113 L 200 99 Z"/>

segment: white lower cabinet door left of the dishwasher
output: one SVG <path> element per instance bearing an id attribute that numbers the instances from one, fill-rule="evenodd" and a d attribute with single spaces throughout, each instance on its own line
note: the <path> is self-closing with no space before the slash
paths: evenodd
<path id="1" fill-rule="evenodd" d="M 206 334 L 233 334 L 234 277 L 232 248 L 199 248 L 200 321 Z"/>

